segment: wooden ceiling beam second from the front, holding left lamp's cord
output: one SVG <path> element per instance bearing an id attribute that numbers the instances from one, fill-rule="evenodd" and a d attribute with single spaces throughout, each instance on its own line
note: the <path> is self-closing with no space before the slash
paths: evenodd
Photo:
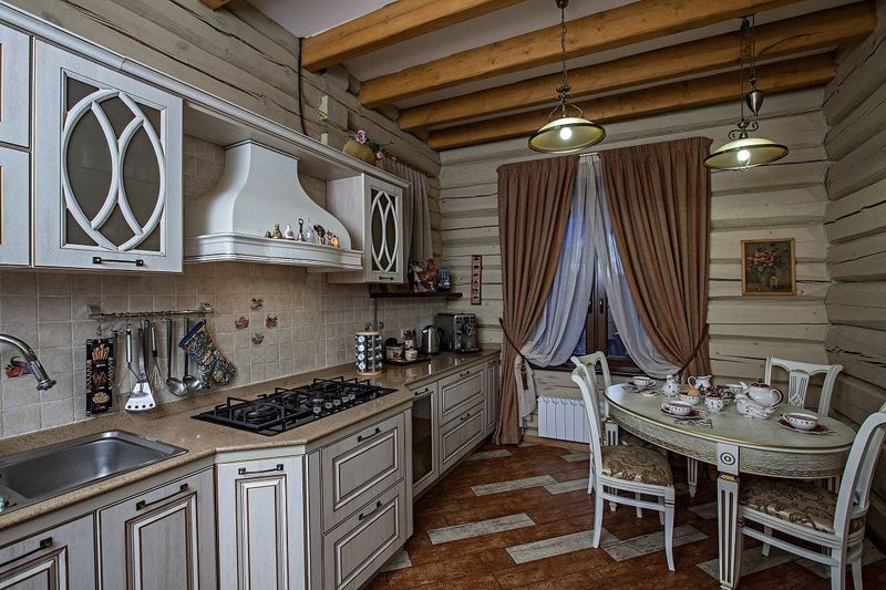
<path id="1" fill-rule="evenodd" d="M 796 1 L 639 0 L 570 21 L 566 55 L 571 59 L 621 48 Z M 556 10 L 554 6 L 550 8 Z M 360 90 L 360 102 L 374 107 L 465 82 L 555 63 L 560 59 L 559 32 L 559 24 L 547 27 L 374 77 Z"/>

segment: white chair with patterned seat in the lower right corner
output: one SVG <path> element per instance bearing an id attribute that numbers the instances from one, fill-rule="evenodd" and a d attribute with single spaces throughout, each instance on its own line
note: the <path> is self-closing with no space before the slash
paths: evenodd
<path id="1" fill-rule="evenodd" d="M 886 431 L 886 404 L 865 420 L 849 452 L 838 493 L 813 482 L 752 477 L 742 483 L 739 500 L 741 534 L 831 568 L 832 590 L 845 588 L 852 565 L 855 590 L 862 589 L 862 551 L 870 483 Z M 748 522 L 763 526 L 763 530 Z M 780 537 L 776 530 L 813 544 L 821 551 Z"/>

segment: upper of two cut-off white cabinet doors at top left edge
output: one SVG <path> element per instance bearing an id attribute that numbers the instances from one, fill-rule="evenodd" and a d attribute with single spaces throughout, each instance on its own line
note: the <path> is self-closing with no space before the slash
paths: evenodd
<path id="1" fill-rule="evenodd" d="M 0 24 L 0 142 L 28 147 L 31 123 L 31 38 Z"/>

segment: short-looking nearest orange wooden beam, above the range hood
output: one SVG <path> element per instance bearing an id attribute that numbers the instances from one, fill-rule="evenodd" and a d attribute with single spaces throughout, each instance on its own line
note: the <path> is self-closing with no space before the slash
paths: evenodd
<path id="1" fill-rule="evenodd" d="M 302 45 L 301 62 L 307 70 L 316 72 L 522 1 L 398 0 L 309 37 Z"/>

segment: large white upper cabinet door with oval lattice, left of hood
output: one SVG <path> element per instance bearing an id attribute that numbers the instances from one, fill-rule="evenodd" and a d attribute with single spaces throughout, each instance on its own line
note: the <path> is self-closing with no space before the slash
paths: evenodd
<path id="1" fill-rule="evenodd" d="M 182 270 L 182 101 L 37 42 L 34 266 Z"/>

